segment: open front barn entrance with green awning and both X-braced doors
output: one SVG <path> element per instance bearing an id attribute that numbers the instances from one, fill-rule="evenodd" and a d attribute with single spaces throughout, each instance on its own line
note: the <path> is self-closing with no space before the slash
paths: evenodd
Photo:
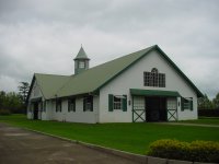
<path id="1" fill-rule="evenodd" d="M 130 89 L 132 122 L 174 121 L 178 119 L 176 91 Z"/>

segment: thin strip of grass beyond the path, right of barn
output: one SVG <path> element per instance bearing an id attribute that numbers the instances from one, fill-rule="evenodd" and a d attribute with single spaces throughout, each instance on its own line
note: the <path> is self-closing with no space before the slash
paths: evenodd
<path id="1" fill-rule="evenodd" d="M 199 125 L 218 125 L 219 117 L 200 117 L 197 120 L 183 120 L 182 122 L 199 124 Z"/>

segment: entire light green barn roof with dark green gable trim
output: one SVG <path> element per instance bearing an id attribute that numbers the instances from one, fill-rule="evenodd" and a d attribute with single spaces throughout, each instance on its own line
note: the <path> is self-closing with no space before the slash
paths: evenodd
<path id="1" fill-rule="evenodd" d="M 82 49 L 82 50 L 81 50 Z M 84 51 L 81 47 L 80 51 Z M 88 94 L 100 91 L 100 89 L 126 71 L 141 58 L 147 56 L 151 50 L 158 50 L 161 56 L 183 77 L 197 96 L 203 96 L 201 92 L 193 84 L 193 82 L 175 66 L 175 63 L 157 46 L 129 54 L 115 60 L 88 69 L 76 75 L 53 75 L 38 74 L 34 77 L 45 98 L 54 98 L 65 96 L 73 96 L 79 94 Z M 80 54 L 79 51 L 79 54 Z"/>

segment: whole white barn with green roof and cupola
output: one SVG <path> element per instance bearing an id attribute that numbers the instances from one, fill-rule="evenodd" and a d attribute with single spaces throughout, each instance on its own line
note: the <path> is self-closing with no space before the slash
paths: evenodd
<path id="1" fill-rule="evenodd" d="M 159 48 L 89 68 L 81 47 L 73 75 L 35 73 L 27 118 L 72 122 L 137 122 L 197 119 L 201 92 Z"/>

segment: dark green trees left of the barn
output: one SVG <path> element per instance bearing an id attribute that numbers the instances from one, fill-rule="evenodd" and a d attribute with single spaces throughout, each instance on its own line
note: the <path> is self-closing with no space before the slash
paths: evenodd
<path id="1" fill-rule="evenodd" d="M 25 114 L 26 97 L 30 90 L 27 82 L 21 82 L 19 93 L 0 91 L 0 115 Z"/>

